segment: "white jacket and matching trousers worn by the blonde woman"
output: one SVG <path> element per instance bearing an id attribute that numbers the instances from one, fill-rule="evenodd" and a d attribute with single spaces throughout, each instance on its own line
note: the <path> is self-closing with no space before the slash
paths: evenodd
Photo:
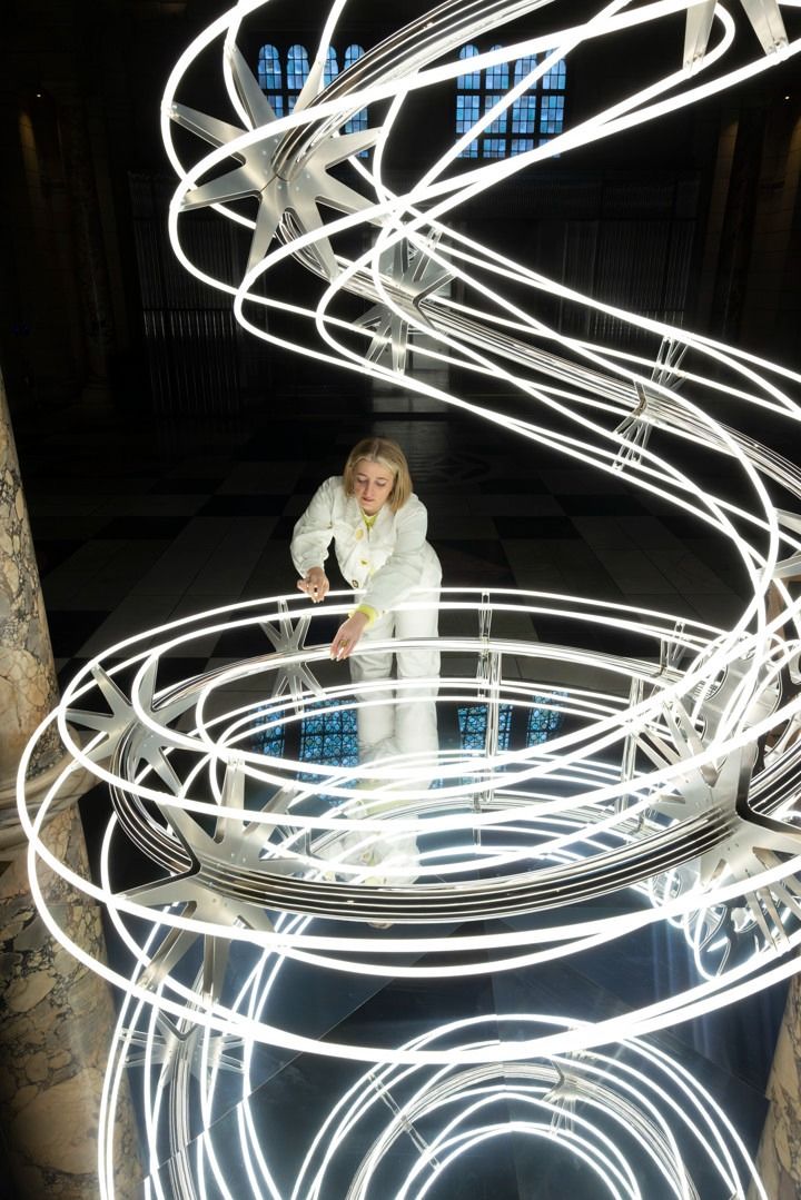
<path id="1" fill-rule="evenodd" d="M 411 496 L 397 512 L 384 504 L 369 529 L 355 497 L 346 496 L 340 475 L 327 479 L 317 488 L 294 527 L 291 552 L 298 572 L 304 576 L 312 566 L 322 566 L 333 539 L 343 577 L 355 590 L 363 589 L 359 604 L 369 605 L 377 613 L 348 659 L 354 684 L 391 678 L 391 650 L 370 652 L 371 641 L 393 634 L 396 637 L 437 637 L 438 592 L 429 592 L 425 607 L 393 612 L 394 605 L 413 600 L 417 589 L 440 587 L 442 568 L 425 540 L 426 529 L 428 514 L 417 496 Z M 436 646 L 399 648 L 395 658 L 399 679 L 440 674 Z M 393 754 L 430 752 L 436 756 L 435 695 L 436 688 L 431 684 L 419 690 L 400 690 L 397 704 L 391 703 L 389 689 L 361 694 L 364 700 L 385 700 L 385 703 L 358 712 L 361 761 Z"/>

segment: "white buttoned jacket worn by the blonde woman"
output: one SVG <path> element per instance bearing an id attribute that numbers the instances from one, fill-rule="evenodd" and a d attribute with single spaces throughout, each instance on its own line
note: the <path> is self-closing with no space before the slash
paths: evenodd
<path id="1" fill-rule="evenodd" d="M 410 496 L 397 512 L 384 504 L 367 529 L 359 502 L 345 494 L 342 476 L 333 475 L 317 488 L 294 527 L 292 562 L 301 576 L 322 566 L 333 539 L 342 576 L 352 588 L 364 588 L 360 602 L 381 614 L 414 588 L 440 586 L 442 568 L 425 540 L 428 524 L 425 505 Z"/>

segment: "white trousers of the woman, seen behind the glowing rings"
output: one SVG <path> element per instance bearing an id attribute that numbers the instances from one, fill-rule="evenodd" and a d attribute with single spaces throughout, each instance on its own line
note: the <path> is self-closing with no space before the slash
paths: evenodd
<path id="1" fill-rule="evenodd" d="M 393 636 L 436 640 L 440 596 L 438 593 L 426 592 L 425 599 L 425 607 L 387 612 L 365 630 L 357 653 L 348 660 L 354 684 L 387 680 L 391 685 L 393 650 L 371 650 L 370 642 Z M 430 754 L 436 757 L 440 749 L 437 685 L 434 682 L 440 674 L 436 641 L 430 646 L 399 647 L 394 656 L 397 679 L 402 682 L 400 688 L 354 688 L 355 698 L 365 702 L 365 707 L 357 712 L 361 762 L 375 762 L 396 754 Z M 414 679 L 429 682 L 416 686 Z"/>

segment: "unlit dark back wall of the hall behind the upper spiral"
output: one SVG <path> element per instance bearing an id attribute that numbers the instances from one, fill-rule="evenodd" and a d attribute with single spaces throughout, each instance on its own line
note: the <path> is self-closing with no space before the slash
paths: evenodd
<path id="1" fill-rule="evenodd" d="M 369 49 L 423 7 L 355 2 L 336 43 Z M 549 6 L 479 44 L 590 11 Z M 276 378 L 319 373 L 237 331 L 227 298 L 190 280 L 166 242 L 175 180 L 159 133 L 160 98 L 180 52 L 220 12 L 203 0 L 4 6 L 0 361 L 14 412 L 106 389 L 139 412 L 235 413 L 263 403 Z M 240 46 L 251 66 L 265 41 L 313 50 L 323 12 L 285 2 L 249 18 Z M 737 53 L 760 53 L 742 13 L 735 16 L 743 26 Z M 676 17 L 657 35 L 638 29 L 581 47 L 568 61 L 566 125 L 676 70 L 682 46 Z M 217 41 L 181 100 L 237 120 L 219 52 Z M 450 220 L 600 300 L 797 365 L 800 114 L 790 62 L 519 174 Z M 393 184 L 413 181 L 450 143 L 453 115 L 452 84 L 410 100 L 387 160 Z M 196 139 L 184 148 L 187 161 L 203 152 Z M 192 215 L 190 236 L 204 260 L 239 278 L 239 230 L 203 210 Z M 550 316 L 573 331 L 574 314 Z"/>

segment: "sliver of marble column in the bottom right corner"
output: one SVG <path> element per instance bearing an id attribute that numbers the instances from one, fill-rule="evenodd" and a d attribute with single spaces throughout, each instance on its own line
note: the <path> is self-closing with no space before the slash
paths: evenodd
<path id="1" fill-rule="evenodd" d="M 787 996 L 767 1099 L 770 1109 L 757 1166 L 770 1200 L 797 1200 L 801 1195 L 801 979 L 797 974 Z"/>

